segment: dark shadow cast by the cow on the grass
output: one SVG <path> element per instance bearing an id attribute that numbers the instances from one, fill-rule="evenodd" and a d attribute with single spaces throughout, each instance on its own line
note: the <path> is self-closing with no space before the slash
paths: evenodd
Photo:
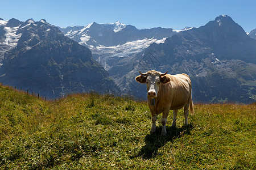
<path id="1" fill-rule="evenodd" d="M 193 124 L 188 124 L 187 126 L 182 126 L 181 128 L 176 128 L 172 126 L 167 126 L 167 135 L 162 136 L 162 126 L 156 127 L 155 133 L 146 135 L 144 141 L 145 146 L 141 148 L 138 154 L 131 156 L 131 158 L 136 158 L 142 156 L 145 159 L 154 158 L 158 155 L 158 149 L 163 147 L 167 142 L 172 142 L 174 139 L 181 138 L 184 134 L 191 134 L 191 129 L 193 129 Z"/>

